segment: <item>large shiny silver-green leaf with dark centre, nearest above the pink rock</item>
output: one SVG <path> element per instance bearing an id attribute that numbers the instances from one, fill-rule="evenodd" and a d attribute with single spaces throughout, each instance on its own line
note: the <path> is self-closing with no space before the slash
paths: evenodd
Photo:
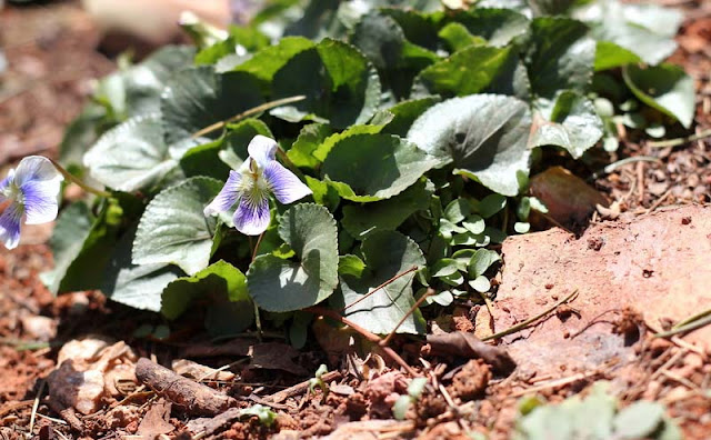
<path id="1" fill-rule="evenodd" d="M 531 117 L 519 99 L 497 94 L 452 98 L 425 111 L 408 140 L 453 163 L 454 173 L 477 179 L 504 196 L 519 192 L 529 173 Z"/>

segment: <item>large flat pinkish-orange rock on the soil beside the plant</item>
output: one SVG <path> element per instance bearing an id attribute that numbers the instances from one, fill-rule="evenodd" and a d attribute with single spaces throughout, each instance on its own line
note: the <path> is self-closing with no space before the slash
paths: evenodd
<path id="1" fill-rule="evenodd" d="M 619 323 L 623 309 L 660 329 L 711 307 L 711 208 L 688 206 L 594 224 L 580 239 L 560 229 L 511 237 L 503 260 L 497 330 L 579 291 L 570 304 L 577 314 L 552 316 L 505 339 L 522 369 L 560 376 L 624 362 L 633 356 L 632 341 L 614 333 L 611 323 Z M 683 339 L 711 351 L 711 326 Z"/>

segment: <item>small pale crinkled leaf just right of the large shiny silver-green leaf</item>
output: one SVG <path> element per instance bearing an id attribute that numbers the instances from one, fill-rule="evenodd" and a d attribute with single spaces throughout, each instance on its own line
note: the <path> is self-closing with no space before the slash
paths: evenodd
<path id="1" fill-rule="evenodd" d="M 531 147 L 562 147 L 573 159 L 593 147 L 604 132 L 592 102 L 573 91 L 560 93 L 555 106 L 539 117 L 542 120 L 531 137 Z"/>

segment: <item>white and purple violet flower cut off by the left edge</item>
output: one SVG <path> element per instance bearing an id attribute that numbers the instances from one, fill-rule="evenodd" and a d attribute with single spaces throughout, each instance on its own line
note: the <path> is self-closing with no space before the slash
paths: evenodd
<path id="1" fill-rule="evenodd" d="M 10 201 L 0 216 L 0 240 L 14 249 L 20 242 L 20 222 L 48 223 L 57 218 L 62 176 L 52 162 L 41 156 L 20 161 L 0 182 L 0 202 Z"/>

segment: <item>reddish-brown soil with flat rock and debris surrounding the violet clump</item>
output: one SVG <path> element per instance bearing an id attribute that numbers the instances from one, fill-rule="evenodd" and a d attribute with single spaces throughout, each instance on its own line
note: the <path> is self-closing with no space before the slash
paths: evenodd
<path id="1" fill-rule="evenodd" d="M 688 19 L 672 61 L 697 80 L 694 130 L 702 133 L 711 129 L 711 4 L 674 3 Z M 0 74 L 0 166 L 57 153 L 93 79 L 114 68 L 96 50 L 98 41 L 77 2 L 0 11 L 0 44 L 9 61 Z M 630 163 L 594 180 L 617 204 L 597 212 L 581 237 L 551 229 L 508 240 L 493 317 L 483 306 L 460 304 L 431 328 L 440 336 L 483 338 L 577 296 L 500 341 L 501 352 L 518 363 L 511 374 L 492 367 L 501 352 L 487 361 L 463 336 L 463 346 L 455 347 L 464 348 L 453 354 L 395 340 L 395 351 L 429 378 L 404 421 L 393 420 L 391 408 L 410 378 L 383 352 L 360 359 L 346 350 L 349 333 L 318 334 L 328 342 L 326 352 L 316 344 L 296 352 L 279 341 L 248 339 L 216 349 L 194 328 L 164 341 L 138 338 L 139 326 L 160 324 L 160 318 L 107 302 L 98 292 L 53 299 L 39 279 L 52 267 L 51 227 L 27 228 L 20 247 L 0 249 L 0 438 L 464 439 L 473 431 L 504 439 L 521 397 L 537 393 L 555 402 L 598 379 L 610 380 L 625 404 L 667 404 L 685 438 L 711 438 L 710 328 L 653 337 L 711 303 L 704 289 L 711 281 L 710 152 L 709 138 L 653 148 L 623 137 L 613 160 L 643 154 L 659 161 Z M 199 414 L 189 403 L 176 403 L 181 387 L 151 389 L 148 379 L 136 377 L 137 362 L 150 369 L 151 361 L 170 367 L 179 358 L 230 366 L 226 370 L 236 376 L 200 366 L 190 376 L 237 407 L 217 417 Z M 319 387 L 309 392 L 303 373 L 320 363 L 334 370 L 327 373 L 328 394 Z M 73 386 L 64 391 L 67 384 Z M 257 403 L 278 413 L 273 424 L 240 416 L 240 408 Z"/>

